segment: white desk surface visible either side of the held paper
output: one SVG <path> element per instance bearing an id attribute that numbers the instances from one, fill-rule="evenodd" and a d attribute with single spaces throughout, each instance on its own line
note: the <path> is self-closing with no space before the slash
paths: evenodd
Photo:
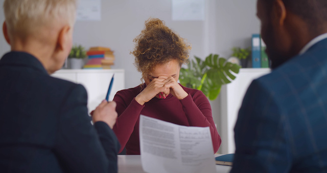
<path id="1" fill-rule="evenodd" d="M 215 155 L 215 157 L 220 155 Z M 227 173 L 231 166 L 216 165 L 216 172 Z M 141 155 L 119 155 L 118 156 L 118 172 L 124 173 L 143 173 Z"/>

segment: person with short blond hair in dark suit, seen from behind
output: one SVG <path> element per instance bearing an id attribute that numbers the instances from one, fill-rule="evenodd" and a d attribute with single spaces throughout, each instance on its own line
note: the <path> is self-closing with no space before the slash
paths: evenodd
<path id="1" fill-rule="evenodd" d="M 2 172 L 117 172 L 115 102 L 91 118 L 84 87 L 49 74 L 72 48 L 76 0 L 5 0 L 0 60 Z"/>

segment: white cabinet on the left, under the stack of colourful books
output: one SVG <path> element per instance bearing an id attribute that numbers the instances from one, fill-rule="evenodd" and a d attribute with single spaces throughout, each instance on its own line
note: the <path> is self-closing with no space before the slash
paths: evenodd
<path id="1" fill-rule="evenodd" d="M 111 76 L 114 74 L 109 100 L 116 92 L 125 89 L 125 71 L 110 70 L 59 70 L 52 76 L 82 84 L 87 91 L 88 112 L 94 110 L 106 98 Z"/>

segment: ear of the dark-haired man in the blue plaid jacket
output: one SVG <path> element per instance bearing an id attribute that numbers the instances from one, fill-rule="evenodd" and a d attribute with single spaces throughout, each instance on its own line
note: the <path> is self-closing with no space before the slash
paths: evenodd
<path id="1" fill-rule="evenodd" d="M 283 26 L 287 11 L 285 8 L 285 4 L 282 0 L 276 0 L 273 2 L 273 7 L 272 7 L 272 12 L 273 12 L 273 22 L 275 24 L 278 24 L 279 26 Z"/>

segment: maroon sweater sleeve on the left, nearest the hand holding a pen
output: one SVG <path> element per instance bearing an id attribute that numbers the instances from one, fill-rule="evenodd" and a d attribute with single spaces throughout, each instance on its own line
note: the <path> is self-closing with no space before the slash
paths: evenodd
<path id="1" fill-rule="evenodd" d="M 113 101 L 117 103 L 116 112 L 118 113 L 117 121 L 113 126 L 113 132 L 121 144 L 119 153 L 122 152 L 133 133 L 139 114 L 141 114 L 145 106 L 139 104 L 135 98 L 132 98 L 130 102 L 126 101 L 128 97 L 130 96 L 126 96 L 124 92 L 118 92 L 113 98 Z"/>

